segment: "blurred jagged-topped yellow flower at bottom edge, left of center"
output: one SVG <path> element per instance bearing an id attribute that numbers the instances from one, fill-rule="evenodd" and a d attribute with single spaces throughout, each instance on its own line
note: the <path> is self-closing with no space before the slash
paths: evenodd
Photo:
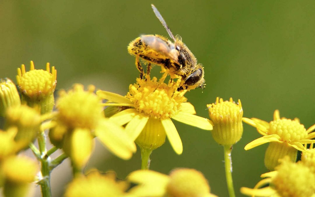
<path id="1" fill-rule="evenodd" d="M 69 183 L 65 197 L 131 197 L 125 193 L 129 184 L 124 181 L 117 182 L 115 179 L 115 175 L 92 171 L 87 176 L 82 175 Z"/>

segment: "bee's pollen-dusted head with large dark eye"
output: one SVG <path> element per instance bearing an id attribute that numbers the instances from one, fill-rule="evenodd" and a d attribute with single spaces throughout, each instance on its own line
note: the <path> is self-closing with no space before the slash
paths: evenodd
<path id="1" fill-rule="evenodd" d="M 203 88 L 204 84 L 204 72 L 203 67 L 198 64 L 197 68 L 191 72 L 186 78 L 183 79 L 183 81 L 180 83 L 177 91 L 180 90 L 193 90 L 197 87 Z"/>

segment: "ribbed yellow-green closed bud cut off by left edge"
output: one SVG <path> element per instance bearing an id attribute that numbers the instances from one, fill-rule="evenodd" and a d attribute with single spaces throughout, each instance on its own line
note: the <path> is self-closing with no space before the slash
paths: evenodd
<path id="1" fill-rule="evenodd" d="M 9 79 L 0 79 L 0 116 L 11 106 L 21 105 L 19 92 L 15 84 Z"/>

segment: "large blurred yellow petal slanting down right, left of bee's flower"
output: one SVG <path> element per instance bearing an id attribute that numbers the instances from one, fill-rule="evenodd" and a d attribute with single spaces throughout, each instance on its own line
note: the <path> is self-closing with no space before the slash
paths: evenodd
<path id="1" fill-rule="evenodd" d="M 136 151 L 135 142 L 129 138 L 124 128 L 107 119 L 95 130 L 95 135 L 113 154 L 122 159 L 130 159 Z"/>

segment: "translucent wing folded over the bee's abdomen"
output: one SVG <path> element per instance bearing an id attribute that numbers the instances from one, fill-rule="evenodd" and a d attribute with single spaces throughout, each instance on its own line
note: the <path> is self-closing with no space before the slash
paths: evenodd
<path id="1" fill-rule="evenodd" d="M 175 49 L 175 45 L 173 43 L 169 46 L 165 40 L 153 35 L 144 35 L 140 38 L 144 43 L 146 43 L 146 45 L 148 45 L 148 47 L 157 53 L 173 60 L 174 62 L 178 62 L 179 52 Z"/>

